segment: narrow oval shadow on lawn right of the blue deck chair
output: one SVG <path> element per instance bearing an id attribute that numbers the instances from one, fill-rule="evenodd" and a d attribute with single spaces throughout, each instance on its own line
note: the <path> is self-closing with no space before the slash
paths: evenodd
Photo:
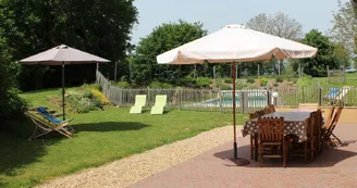
<path id="1" fill-rule="evenodd" d="M 134 117 L 133 117 L 134 118 Z M 72 127 L 76 131 L 116 131 L 116 130 L 138 130 L 149 125 L 137 122 L 99 122 L 76 124 Z"/>

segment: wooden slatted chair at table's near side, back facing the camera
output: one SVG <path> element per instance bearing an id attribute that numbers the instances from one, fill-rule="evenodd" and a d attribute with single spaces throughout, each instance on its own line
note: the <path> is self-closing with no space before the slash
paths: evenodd
<path id="1" fill-rule="evenodd" d="M 284 118 L 258 117 L 258 126 L 259 165 L 262 166 L 263 158 L 282 158 L 283 166 L 285 167 L 287 141 L 284 137 Z"/>

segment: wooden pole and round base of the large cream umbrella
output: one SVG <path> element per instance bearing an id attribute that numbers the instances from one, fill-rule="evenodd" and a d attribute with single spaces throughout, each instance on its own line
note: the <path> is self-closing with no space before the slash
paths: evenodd
<path id="1" fill-rule="evenodd" d="M 227 166 L 245 166 L 249 164 L 249 161 L 244 158 L 238 158 L 237 149 L 237 137 L 236 137 L 236 126 L 235 126 L 235 62 L 232 63 L 232 79 L 233 79 L 233 90 L 232 90 L 232 102 L 233 102 L 233 159 L 226 159 L 225 165 Z"/>

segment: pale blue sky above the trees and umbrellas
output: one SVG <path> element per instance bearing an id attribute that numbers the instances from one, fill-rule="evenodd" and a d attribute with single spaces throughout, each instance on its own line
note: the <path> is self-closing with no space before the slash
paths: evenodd
<path id="1" fill-rule="evenodd" d="M 346 0 L 342 0 L 346 1 Z M 201 22 L 209 33 L 227 24 L 245 24 L 259 13 L 283 12 L 303 24 L 303 32 L 312 28 L 328 32 L 337 0 L 136 0 L 139 24 L 133 29 L 132 42 L 149 35 L 162 23 Z"/>

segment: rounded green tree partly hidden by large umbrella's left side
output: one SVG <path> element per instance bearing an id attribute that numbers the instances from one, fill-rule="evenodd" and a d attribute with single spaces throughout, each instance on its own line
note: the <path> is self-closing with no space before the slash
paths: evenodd
<path id="1" fill-rule="evenodd" d="M 135 82 L 138 84 L 149 84 L 151 80 L 174 82 L 175 78 L 194 72 L 195 65 L 160 65 L 156 57 L 207 35 L 202 27 L 201 23 L 187 23 L 182 20 L 156 27 L 135 49 L 136 53 L 133 57 Z M 197 67 L 205 70 L 205 65 Z"/>

